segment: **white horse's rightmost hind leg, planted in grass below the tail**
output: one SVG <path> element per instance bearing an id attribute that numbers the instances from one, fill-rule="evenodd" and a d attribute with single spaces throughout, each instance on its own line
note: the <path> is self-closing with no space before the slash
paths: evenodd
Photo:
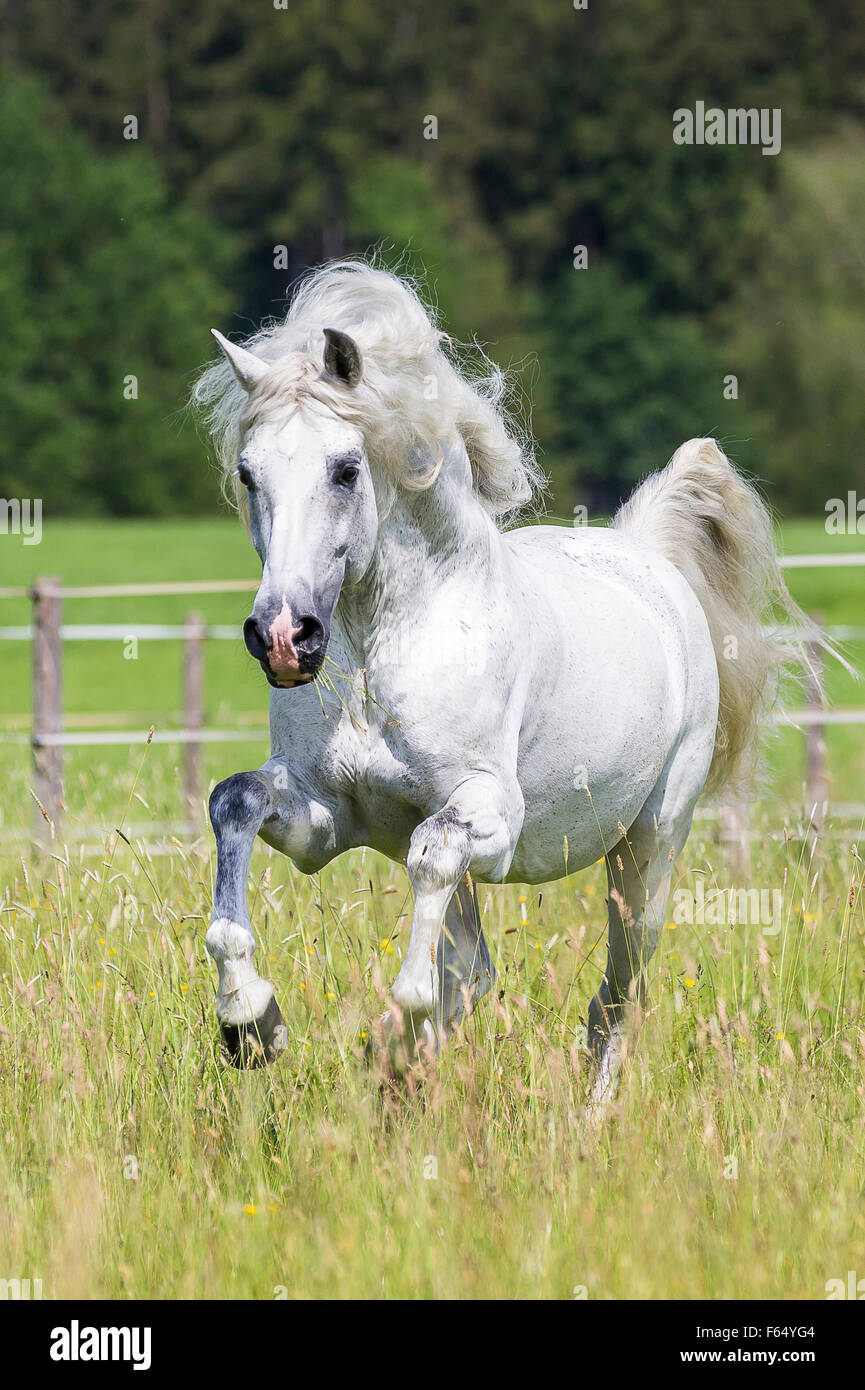
<path id="1" fill-rule="evenodd" d="M 609 942 L 606 970 L 588 1009 L 588 1044 L 597 1074 L 588 1106 L 602 1115 L 622 1063 L 629 1006 L 645 1004 L 677 855 L 691 828 L 705 781 L 706 738 L 679 745 L 627 834 L 606 855 Z"/>

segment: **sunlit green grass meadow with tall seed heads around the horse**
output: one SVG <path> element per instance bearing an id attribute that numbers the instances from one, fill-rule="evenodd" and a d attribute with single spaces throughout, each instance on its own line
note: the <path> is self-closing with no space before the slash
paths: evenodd
<path id="1" fill-rule="evenodd" d="M 787 550 L 862 549 L 793 524 Z M 253 577 L 231 521 L 46 525 L 0 543 L 0 585 Z M 794 571 L 830 624 L 865 571 Z M 239 623 L 246 595 L 195 600 Z M 65 620 L 181 621 L 186 599 L 68 602 Z M 1 624 L 28 621 L 3 600 Z M 861 646 L 850 656 L 862 664 Z M 68 644 L 74 728 L 179 724 L 179 651 Z M 29 651 L 0 642 L 0 730 L 25 731 Z M 833 670 L 841 706 L 862 692 Z M 207 648 L 210 780 L 267 753 L 241 642 Z M 837 802 L 865 799 L 862 728 L 830 728 Z M 353 852 L 316 877 L 260 845 L 261 973 L 289 1034 L 266 1072 L 225 1066 L 203 947 L 214 853 L 181 813 L 172 748 L 67 758 L 67 817 L 36 856 L 29 755 L 0 744 L 0 1276 L 46 1297 L 825 1298 L 865 1276 L 865 831 L 807 834 L 804 746 L 773 741 L 750 865 L 702 817 L 674 888 L 780 894 L 772 923 L 668 919 L 608 1125 L 587 1130 L 583 1052 L 605 962 L 604 866 L 480 890 L 498 984 L 403 1090 L 362 1061 L 409 931 L 405 869 Z"/>

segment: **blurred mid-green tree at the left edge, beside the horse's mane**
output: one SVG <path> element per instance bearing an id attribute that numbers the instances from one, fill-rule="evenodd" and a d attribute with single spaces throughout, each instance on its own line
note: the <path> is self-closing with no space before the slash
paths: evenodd
<path id="1" fill-rule="evenodd" d="M 0 96 L 3 491 L 54 512 L 195 510 L 217 488 L 181 407 L 225 322 L 232 245 L 134 142 L 96 154 L 32 81 Z"/>

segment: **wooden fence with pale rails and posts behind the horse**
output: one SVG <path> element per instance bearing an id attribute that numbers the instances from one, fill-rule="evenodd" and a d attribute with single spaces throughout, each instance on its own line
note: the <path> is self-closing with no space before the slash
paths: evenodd
<path id="1" fill-rule="evenodd" d="M 843 569 L 865 566 L 865 553 L 791 555 L 780 562 L 786 569 Z M 33 752 L 35 791 L 45 808 L 49 824 L 60 820 L 63 806 L 63 749 L 65 746 L 107 746 L 134 744 L 179 744 L 185 748 L 184 791 L 189 815 L 200 805 L 202 745 L 221 742 L 257 742 L 267 731 L 253 728 L 203 728 L 204 641 L 236 641 L 239 628 L 234 624 L 209 624 L 200 614 L 191 613 L 184 624 L 177 623 L 63 623 L 64 599 L 106 598 L 170 598 L 206 594 L 252 594 L 257 580 L 203 580 L 142 584 L 63 585 L 58 578 L 43 577 L 32 587 L 0 587 L 0 599 L 26 598 L 32 603 L 33 620 L 28 624 L 0 627 L 0 641 L 28 641 L 32 644 L 33 716 L 31 734 L 0 734 L 0 742 L 29 745 Z M 837 641 L 865 641 L 865 627 L 834 627 L 826 630 Z M 184 727 L 175 730 L 90 730 L 67 731 L 63 727 L 63 644 L 64 642 L 124 642 L 181 641 L 184 644 Z M 819 660 L 819 651 L 814 660 Z M 826 710 L 816 688 L 809 691 L 808 708 L 783 710 L 773 716 L 779 724 L 805 730 L 809 787 L 814 801 L 822 806 L 826 799 L 823 730 L 829 724 L 865 724 L 865 710 Z M 747 842 L 744 808 L 731 806 L 722 812 L 727 838 Z M 819 817 L 818 817 L 819 819 Z M 38 819 L 38 831 L 45 834 L 45 821 Z"/>

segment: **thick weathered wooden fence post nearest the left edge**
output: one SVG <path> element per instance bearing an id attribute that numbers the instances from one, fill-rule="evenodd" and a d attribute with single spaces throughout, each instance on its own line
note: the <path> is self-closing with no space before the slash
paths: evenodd
<path id="1" fill-rule="evenodd" d="M 63 733 L 63 600 L 60 580 L 39 578 L 33 600 L 33 791 L 45 812 L 36 810 L 36 840 L 54 837 L 63 810 L 63 745 L 45 735 Z M 46 823 L 47 817 L 47 823 Z"/>

